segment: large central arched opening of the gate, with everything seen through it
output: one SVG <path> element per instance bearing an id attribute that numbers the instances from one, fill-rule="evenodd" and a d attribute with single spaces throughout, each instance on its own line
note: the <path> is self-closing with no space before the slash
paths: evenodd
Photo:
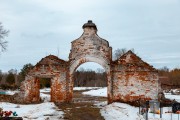
<path id="1" fill-rule="evenodd" d="M 98 63 L 85 62 L 73 74 L 73 99 L 76 102 L 107 101 L 107 71 Z"/>

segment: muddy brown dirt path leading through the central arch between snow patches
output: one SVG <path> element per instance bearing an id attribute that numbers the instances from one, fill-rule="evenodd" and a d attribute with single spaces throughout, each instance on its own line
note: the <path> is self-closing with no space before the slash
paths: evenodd
<path id="1" fill-rule="evenodd" d="M 100 114 L 100 109 L 94 104 L 106 101 L 105 97 L 92 97 L 83 95 L 84 91 L 74 91 L 73 102 L 59 104 L 59 108 L 65 113 L 67 120 L 104 120 Z"/>

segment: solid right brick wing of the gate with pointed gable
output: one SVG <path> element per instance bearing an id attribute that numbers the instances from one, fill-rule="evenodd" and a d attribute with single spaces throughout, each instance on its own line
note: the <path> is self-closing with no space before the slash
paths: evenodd
<path id="1" fill-rule="evenodd" d="M 132 51 L 112 63 L 113 101 L 158 98 L 158 73 Z"/>

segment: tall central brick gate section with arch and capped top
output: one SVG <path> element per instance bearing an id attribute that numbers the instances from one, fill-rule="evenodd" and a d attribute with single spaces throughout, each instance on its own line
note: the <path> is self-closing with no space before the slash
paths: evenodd
<path id="1" fill-rule="evenodd" d="M 69 54 L 69 98 L 73 92 L 73 73 L 83 63 L 95 62 L 105 69 L 108 78 L 108 95 L 111 97 L 110 62 L 112 59 L 112 48 L 109 42 L 97 35 L 97 28 L 92 21 L 83 25 L 83 34 L 71 43 Z"/>

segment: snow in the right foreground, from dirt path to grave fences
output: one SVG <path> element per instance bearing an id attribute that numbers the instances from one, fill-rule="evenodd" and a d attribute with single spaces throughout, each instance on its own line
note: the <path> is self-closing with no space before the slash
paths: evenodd
<path id="1" fill-rule="evenodd" d="M 100 112 L 105 120 L 145 120 L 145 114 L 144 116 L 138 114 L 138 107 L 117 102 L 110 105 L 106 105 L 104 103 L 99 103 L 96 105 L 101 107 Z M 159 114 L 148 113 L 148 120 L 178 120 L 178 114 L 165 113 L 171 110 L 171 108 L 164 107 L 162 119 L 160 119 Z"/>

